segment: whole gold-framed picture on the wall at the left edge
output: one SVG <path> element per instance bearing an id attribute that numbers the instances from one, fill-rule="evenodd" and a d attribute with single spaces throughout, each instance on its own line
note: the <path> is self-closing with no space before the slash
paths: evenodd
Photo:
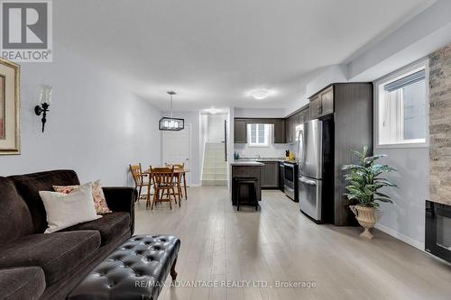
<path id="1" fill-rule="evenodd" d="M 20 154 L 20 70 L 0 59 L 0 155 Z"/>

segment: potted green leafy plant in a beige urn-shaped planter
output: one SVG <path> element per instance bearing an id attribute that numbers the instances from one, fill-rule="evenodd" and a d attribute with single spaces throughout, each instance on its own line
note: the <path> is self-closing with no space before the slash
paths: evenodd
<path id="1" fill-rule="evenodd" d="M 355 214 L 355 218 L 362 227 L 364 232 L 360 236 L 373 239 L 370 228 L 376 223 L 376 211 L 379 202 L 391 201 L 389 195 L 383 194 L 380 190 L 383 187 L 398 187 L 387 178 L 382 177 L 383 174 L 396 171 L 389 165 L 376 164 L 375 161 L 385 154 L 368 156 L 368 146 L 364 146 L 362 152 L 352 150 L 359 159 L 359 164 L 345 165 L 342 170 L 345 173 L 346 197 L 349 201 L 349 208 Z"/>

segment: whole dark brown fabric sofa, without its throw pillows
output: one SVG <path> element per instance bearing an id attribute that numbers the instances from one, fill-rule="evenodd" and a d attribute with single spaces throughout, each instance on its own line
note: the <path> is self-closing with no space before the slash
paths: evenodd
<path id="1" fill-rule="evenodd" d="M 132 236 L 137 195 L 131 187 L 104 187 L 112 214 L 44 234 L 39 191 L 78 184 L 72 170 L 0 177 L 0 299 L 64 299 Z"/>

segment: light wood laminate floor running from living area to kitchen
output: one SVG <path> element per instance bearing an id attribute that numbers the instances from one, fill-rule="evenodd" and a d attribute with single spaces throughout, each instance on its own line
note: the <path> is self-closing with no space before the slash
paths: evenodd
<path id="1" fill-rule="evenodd" d="M 181 208 L 137 205 L 136 234 L 179 236 L 180 282 L 268 285 L 165 286 L 159 299 L 451 299 L 447 264 L 383 232 L 365 241 L 357 228 L 317 225 L 279 191 L 263 191 L 262 199 L 261 211 L 236 212 L 226 187 L 208 186 L 189 188 Z M 276 281 L 314 281 L 316 287 L 275 288 Z"/>

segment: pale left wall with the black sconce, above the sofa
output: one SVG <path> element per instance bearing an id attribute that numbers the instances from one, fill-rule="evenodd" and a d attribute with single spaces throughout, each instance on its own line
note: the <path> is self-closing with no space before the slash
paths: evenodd
<path id="1" fill-rule="evenodd" d="M 42 84 L 54 88 L 44 133 L 33 113 Z M 22 154 L 0 156 L 0 176 L 72 168 L 124 186 L 129 163 L 161 163 L 160 112 L 58 44 L 53 62 L 22 65 L 21 94 Z"/>

